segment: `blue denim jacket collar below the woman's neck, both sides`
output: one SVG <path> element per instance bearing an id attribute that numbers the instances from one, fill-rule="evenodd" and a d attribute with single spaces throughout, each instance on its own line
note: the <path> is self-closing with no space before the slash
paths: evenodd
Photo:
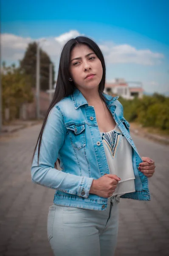
<path id="1" fill-rule="evenodd" d="M 115 102 L 116 99 L 119 98 L 118 96 L 114 96 L 113 97 L 113 96 L 110 96 L 110 95 L 108 95 L 106 93 L 102 93 L 102 95 L 105 98 L 106 105 L 109 106 L 109 107 L 110 107 L 110 105 L 113 104 L 113 102 Z M 87 100 L 85 99 L 85 97 L 83 96 L 83 94 L 81 93 L 81 91 L 78 88 L 76 88 L 73 91 L 73 93 L 71 94 L 71 97 L 72 97 L 75 109 L 77 109 L 80 106 L 85 105 L 85 104 L 88 105 Z"/>

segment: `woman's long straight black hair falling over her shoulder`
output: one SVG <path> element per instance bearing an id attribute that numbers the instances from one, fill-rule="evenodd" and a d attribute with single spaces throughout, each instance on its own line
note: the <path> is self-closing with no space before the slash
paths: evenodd
<path id="1" fill-rule="evenodd" d="M 39 137 L 37 139 L 37 144 L 34 149 L 34 154 L 37 149 L 38 145 L 38 165 L 39 165 L 39 152 L 40 152 L 40 145 L 42 141 L 42 134 L 43 130 L 45 128 L 46 120 L 48 118 L 48 114 L 51 111 L 51 109 L 54 107 L 54 105 L 59 102 L 61 99 L 64 97 L 70 95 L 73 93 L 75 90 L 75 84 L 73 81 L 69 81 L 70 73 L 69 73 L 69 65 L 70 65 L 70 53 L 72 49 L 77 45 L 77 44 L 85 44 L 87 45 L 90 49 L 95 52 L 97 57 L 100 59 L 102 68 L 103 68 L 103 76 L 101 79 L 101 82 L 99 84 L 99 96 L 101 99 L 104 100 L 105 98 L 102 95 L 104 91 L 104 85 L 105 85 L 105 76 L 106 76 L 106 67 L 105 67 L 105 62 L 104 62 L 104 57 L 103 54 L 99 48 L 99 46 L 90 38 L 87 38 L 85 36 L 78 36 L 76 38 L 70 39 L 63 47 L 61 56 L 60 56 L 60 61 L 59 61 L 59 71 L 58 71 L 58 77 L 57 77 L 57 82 L 56 82 L 56 88 L 55 88 L 55 93 L 54 93 L 54 98 L 52 99 L 52 102 L 48 108 L 48 111 L 45 115 L 45 119 L 42 124 L 42 128 L 39 133 Z M 33 154 L 33 158 L 34 158 Z M 60 164 L 59 158 L 57 159 L 58 163 Z M 55 163 L 55 167 L 57 168 L 57 161 Z"/>

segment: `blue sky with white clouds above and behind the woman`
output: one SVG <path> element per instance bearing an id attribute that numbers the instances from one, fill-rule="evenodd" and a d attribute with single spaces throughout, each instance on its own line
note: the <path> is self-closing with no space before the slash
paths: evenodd
<path id="1" fill-rule="evenodd" d="M 17 62 L 29 41 L 46 38 L 55 63 L 66 40 L 86 35 L 105 57 L 107 81 L 141 81 L 147 92 L 169 92 L 168 0 L 1 0 L 2 60 Z"/>

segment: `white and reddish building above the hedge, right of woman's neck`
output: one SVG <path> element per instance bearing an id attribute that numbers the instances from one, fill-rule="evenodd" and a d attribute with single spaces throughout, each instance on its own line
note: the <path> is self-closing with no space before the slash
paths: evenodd
<path id="1" fill-rule="evenodd" d="M 137 82 L 135 82 L 136 84 Z M 139 83 L 140 84 L 140 83 Z M 134 97 L 143 97 L 143 88 L 129 87 L 128 83 L 124 79 L 115 79 L 113 83 L 106 83 L 104 87 L 105 93 L 121 96 L 124 99 L 134 99 Z"/>

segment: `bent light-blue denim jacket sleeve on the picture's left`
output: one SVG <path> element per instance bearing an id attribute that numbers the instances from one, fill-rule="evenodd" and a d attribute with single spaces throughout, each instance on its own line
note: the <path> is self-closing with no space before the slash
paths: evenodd
<path id="1" fill-rule="evenodd" d="M 62 148 L 66 134 L 62 112 L 54 106 L 48 115 L 42 134 L 39 153 L 39 166 L 37 163 L 37 150 L 31 166 L 31 177 L 34 183 L 57 189 L 66 193 L 87 198 L 93 178 L 72 175 L 54 168 L 59 149 Z"/>

